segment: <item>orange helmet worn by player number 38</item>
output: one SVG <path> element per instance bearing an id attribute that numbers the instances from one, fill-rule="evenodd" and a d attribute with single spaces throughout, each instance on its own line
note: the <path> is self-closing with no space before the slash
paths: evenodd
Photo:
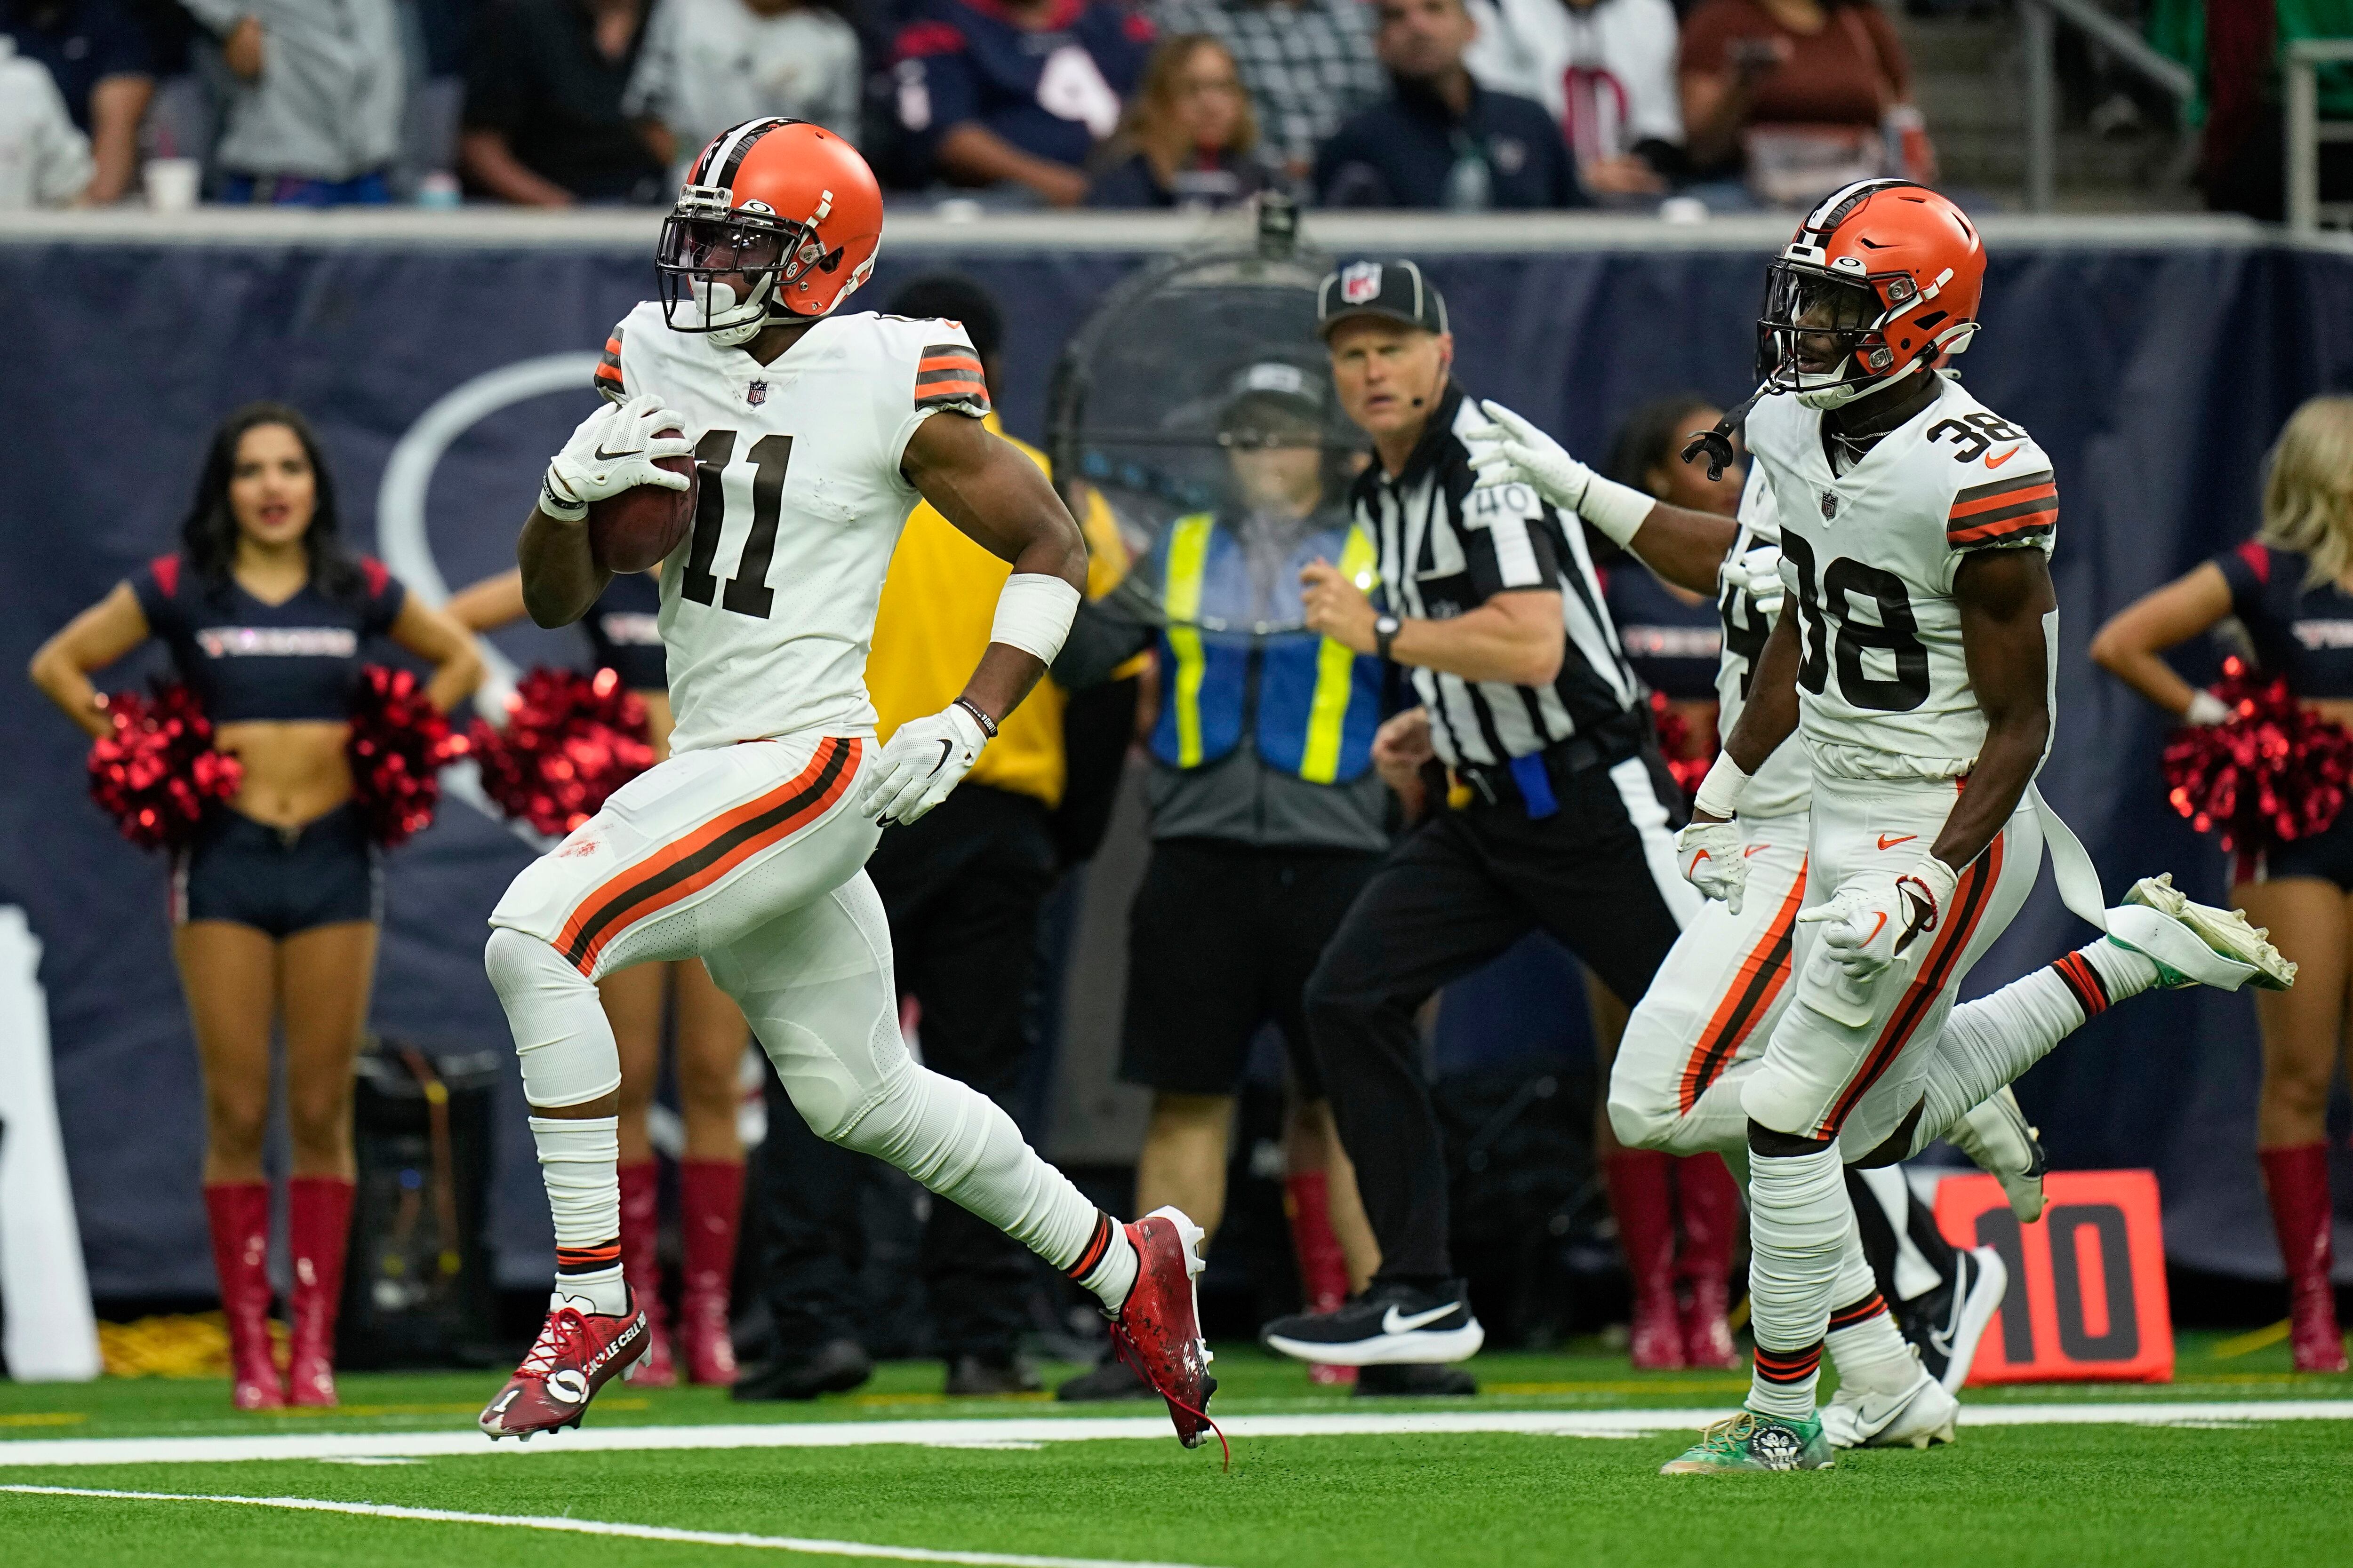
<path id="1" fill-rule="evenodd" d="M 1927 369 L 1969 346 L 1984 289 L 1986 247 L 1960 207 L 1901 179 L 1835 190 L 1765 273 L 1762 390 L 1831 409 Z M 1800 336 L 1842 353 L 1807 369 Z"/>

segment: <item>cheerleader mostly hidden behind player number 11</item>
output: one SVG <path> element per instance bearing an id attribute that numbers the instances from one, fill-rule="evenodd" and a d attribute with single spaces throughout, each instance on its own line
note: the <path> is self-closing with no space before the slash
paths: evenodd
<path id="1" fill-rule="evenodd" d="M 614 574 L 581 628 L 600 670 L 645 701 L 654 762 L 671 755 L 671 684 L 661 651 L 661 588 L 654 574 Z M 473 632 L 489 632 L 522 618 L 522 574 L 506 571 L 461 590 L 449 614 Z M 727 1328 L 727 1293 L 734 1279 L 736 1220 L 744 1211 L 744 1145 L 736 1140 L 736 1072 L 751 1044 L 751 1025 L 736 1004 L 711 983 L 699 959 L 638 964 L 598 983 L 614 1041 L 621 1046 L 621 1272 L 645 1305 L 652 1342 L 633 1378 L 668 1385 L 678 1380 L 656 1262 L 656 1166 L 645 1135 L 645 1112 L 661 1081 L 661 1020 L 678 1018 L 678 1105 L 687 1124 L 685 1159 L 678 1161 L 680 1229 L 685 1232 L 685 1288 L 678 1302 L 678 1342 L 687 1378 L 732 1385 L 734 1342 Z"/>

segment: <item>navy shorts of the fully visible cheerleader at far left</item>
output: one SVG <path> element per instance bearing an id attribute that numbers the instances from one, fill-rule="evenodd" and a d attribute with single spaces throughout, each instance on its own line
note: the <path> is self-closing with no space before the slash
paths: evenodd
<path id="1" fill-rule="evenodd" d="M 172 863 L 172 924 L 226 919 L 285 938 L 384 919 L 384 863 L 346 802 L 301 827 L 214 811 Z"/>

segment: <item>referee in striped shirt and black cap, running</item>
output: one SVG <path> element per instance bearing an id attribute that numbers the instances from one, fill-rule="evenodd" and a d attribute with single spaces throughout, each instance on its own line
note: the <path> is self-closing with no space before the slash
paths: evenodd
<path id="1" fill-rule="evenodd" d="M 1329 1314 L 1266 1326 L 1273 1349 L 1341 1366 L 1461 1361 L 1485 1331 L 1447 1251 L 1447 1166 L 1414 1013 L 1529 929 L 1628 1001 L 1699 893 L 1675 870 L 1680 795 L 1659 759 L 1584 524 L 1525 484 L 1473 491 L 1447 306 L 1412 261 L 1322 280 L 1318 329 L 1341 407 L 1372 435 L 1351 508 L 1379 602 L 1329 562 L 1306 621 L 1405 665 L 1421 705 L 1381 726 L 1386 762 L 1435 757 L 1447 804 L 1388 856 L 1325 947 L 1306 1013 L 1381 1272 Z M 1668 804 L 1673 802 L 1673 806 Z"/>

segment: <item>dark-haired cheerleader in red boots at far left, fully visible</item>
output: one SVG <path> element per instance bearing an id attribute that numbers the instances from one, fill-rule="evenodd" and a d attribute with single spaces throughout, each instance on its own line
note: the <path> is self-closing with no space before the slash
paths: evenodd
<path id="1" fill-rule="evenodd" d="M 294 409 L 256 402 L 214 433 L 162 555 L 73 618 L 33 656 L 33 682 L 92 736 L 108 731 L 89 672 L 148 637 L 242 762 L 242 783 L 172 863 L 172 954 L 205 1079 L 205 1213 L 221 1276 L 240 1410 L 334 1403 L 334 1309 L 351 1225 L 353 1058 L 376 966 L 381 867 L 353 799 L 348 715 L 369 637 L 433 665 L 447 710 L 480 656 L 447 616 L 346 550 L 334 480 Z M 271 1030 L 285 1034 L 294 1152 L 292 1363 L 271 1354 L 268 1211 L 261 1143 Z"/>

